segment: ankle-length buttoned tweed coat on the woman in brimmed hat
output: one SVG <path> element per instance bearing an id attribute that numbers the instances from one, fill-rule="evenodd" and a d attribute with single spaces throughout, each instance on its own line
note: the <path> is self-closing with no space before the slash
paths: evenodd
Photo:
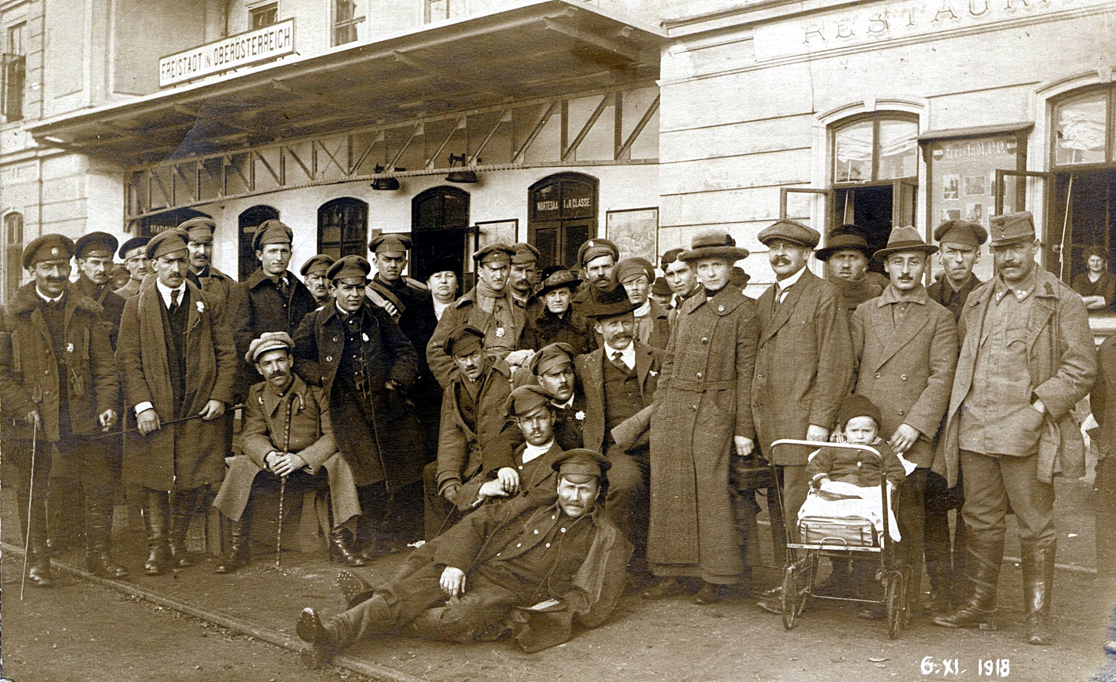
<path id="1" fill-rule="evenodd" d="M 729 464 L 733 436 L 756 434 L 748 396 L 759 333 L 756 301 L 735 287 L 679 310 L 651 424 L 647 561 L 657 575 L 731 583 L 744 569 Z"/>

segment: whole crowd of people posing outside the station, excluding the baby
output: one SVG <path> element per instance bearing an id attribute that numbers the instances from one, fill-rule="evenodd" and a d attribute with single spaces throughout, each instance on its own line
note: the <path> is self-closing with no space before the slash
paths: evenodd
<path id="1" fill-rule="evenodd" d="M 856 393 L 913 464 L 897 491 L 901 557 L 916 586 L 925 557 L 935 622 L 989 622 L 1010 506 L 1028 641 L 1047 643 L 1051 480 L 1084 473 L 1070 411 L 1096 354 L 1081 298 L 1035 262 L 1030 214 L 990 224 L 997 276 L 980 282 L 989 234 L 977 223 L 939 225 L 936 246 L 896 228 L 875 251 L 844 225 L 816 252 L 819 278 L 807 263 L 820 234 L 780 220 L 759 233 L 776 284 L 758 299 L 735 266 L 749 252 L 724 232 L 665 253 L 663 279 L 606 239 L 583 244 L 576 267 L 547 269 L 530 244 L 490 243 L 460 297 L 459 262 L 430 263 L 424 284 L 404 275 L 398 234 L 373 238 L 373 262 L 314 256 L 305 282 L 278 220 L 256 229 L 259 268 L 241 282 L 210 262 L 206 218 L 119 249 L 99 232 L 40 237 L 23 253 L 33 281 L 0 326 L 28 579 L 50 584 L 51 460 L 85 488 L 86 567 L 113 578 L 127 574 L 108 550 L 121 480 L 141 491 L 152 575 L 191 564 L 185 532 L 211 502 L 231 521 L 218 571 L 243 566 L 253 496 L 287 486 L 329 491 L 330 546 L 363 566 L 372 520 L 421 481 L 425 548 L 386 587 L 346 574 L 352 608 L 327 623 L 304 613 L 299 635 L 321 655 L 404 626 L 516 632 L 532 650 L 602 622 L 625 583 L 699 604 L 748 584 L 758 557 L 742 550 L 753 527 L 741 519 L 757 491 L 741 472 L 776 465 L 772 518 L 793 539 L 810 449 L 772 443 L 826 442 Z M 115 292 L 114 252 L 132 278 Z M 935 252 L 944 276 L 924 287 Z"/>

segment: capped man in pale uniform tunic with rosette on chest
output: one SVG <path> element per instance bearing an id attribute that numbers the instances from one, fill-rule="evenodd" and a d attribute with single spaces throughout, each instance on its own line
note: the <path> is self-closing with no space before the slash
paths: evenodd
<path id="1" fill-rule="evenodd" d="M 442 313 L 437 328 L 426 346 L 426 361 L 435 378 L 446 387 L 456 371 L 445 352 L 445 339 L 460 325 L 471 325 L 484 333 L 484 349 L 504 358 L 516 349 L 523 332 L 526 314 L 508 289 L 508 269 L 514 251 L 508 244 L 490 243 L 473 254 L 477 286 Z"/>

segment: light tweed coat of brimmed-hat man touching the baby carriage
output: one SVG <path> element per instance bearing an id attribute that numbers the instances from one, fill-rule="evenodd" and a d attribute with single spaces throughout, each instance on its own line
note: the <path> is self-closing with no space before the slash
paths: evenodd
<path id="1" fill-rule="evenodd" d="M 956 324 L 953 315 L 920 286 L 895 327 L 895 289 L 888 285 L 882 296 L 860 304 L 853 313 L 854 393 L 879 409 L 884 440 L 902 424 L 917 429 L 918 440 L 903 457 L 918 467 L 930 467 L 958 365 Z"/>

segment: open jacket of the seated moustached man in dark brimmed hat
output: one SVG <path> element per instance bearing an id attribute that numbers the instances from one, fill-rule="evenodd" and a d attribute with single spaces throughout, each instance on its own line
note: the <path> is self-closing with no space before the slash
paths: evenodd
<path id="1" fill-rule="evenodd" d="M 639 395 L 643 398 L 643 410 L 629 420 L 643 425 L 643 432 L 651 423 L 652 405 L 655 402 L 655 390 L 663 372 L 666 350 L 661 350 L 647 344 L 633 340 L 635 344 L 635 374 L 639 381 Z M 585 423 L 581 429 L 583 448 L 604 454 L 605 445 L 605 349 L 597 348 L 587 355 L 574 358 L 574 371 L 580 381 L 585 393 Z M 619 426 L 617 426 L 619 428 Z M 646 442 L 646 435 L 644 435 Z M 618 440 L 614 436 L 613 439 Z M 631 445 L 629 445 L 631 446 Z"/>

